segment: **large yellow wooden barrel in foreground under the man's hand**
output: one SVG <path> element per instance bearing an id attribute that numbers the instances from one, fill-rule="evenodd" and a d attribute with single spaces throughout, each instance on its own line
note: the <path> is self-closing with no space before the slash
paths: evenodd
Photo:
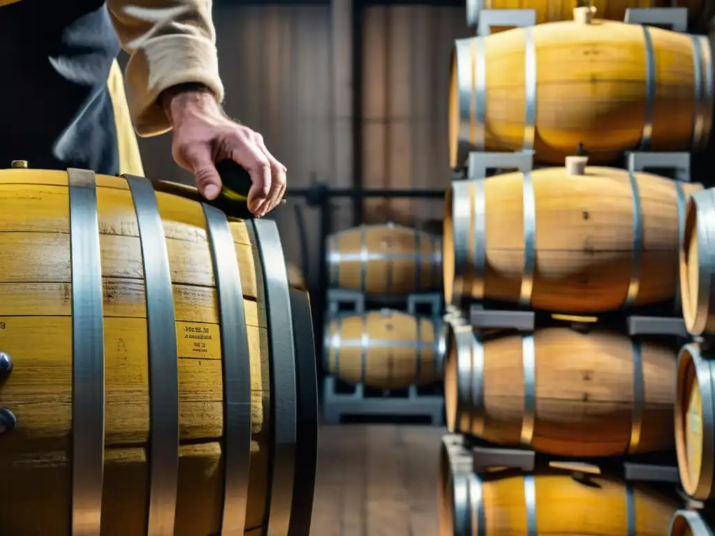
<path id="1" fill-rule="evenodd" d="M 275 223 L 79 169 L 0 206 L 0 534 L 307 534 Z"/>

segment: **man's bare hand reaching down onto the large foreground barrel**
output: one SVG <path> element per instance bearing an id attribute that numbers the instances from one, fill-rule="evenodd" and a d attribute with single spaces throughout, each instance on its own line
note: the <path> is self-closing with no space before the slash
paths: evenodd
<path id="1" fill-rule="evenodd" d="M 228 119 L 207 89 L 177 86 L 164 91 L 161 102 L 174 130 L 174 160 L 193 172 L 206 199 L 221 192 L 215 162 L 230 159 L 251 176 L 248 209 L 253 214 L 264 216 L 280 203 L 287 169 L 268 152 L 260 134 Z"/>

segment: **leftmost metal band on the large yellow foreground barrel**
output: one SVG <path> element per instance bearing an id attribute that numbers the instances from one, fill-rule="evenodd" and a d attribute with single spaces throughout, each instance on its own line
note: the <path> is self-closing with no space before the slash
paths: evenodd
<path id="1" fill-rule="evenodd" d="M 104 309 L 94 172 L 67 169 L 72 277 L 71 536 L 97 536 L 104 482 Z"/>

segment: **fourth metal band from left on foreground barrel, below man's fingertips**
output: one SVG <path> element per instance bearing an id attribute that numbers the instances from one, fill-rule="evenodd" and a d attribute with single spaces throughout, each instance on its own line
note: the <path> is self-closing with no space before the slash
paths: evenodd
<path id="1" fill-rule="evenodd" d="M 246 222 L 260 255 L 270 349 L 272 465 L 267 497 L 267 534 L 288 532 L 295 485 L 297 442 L 295 348 L 288 276 L 275 222 Z"/>

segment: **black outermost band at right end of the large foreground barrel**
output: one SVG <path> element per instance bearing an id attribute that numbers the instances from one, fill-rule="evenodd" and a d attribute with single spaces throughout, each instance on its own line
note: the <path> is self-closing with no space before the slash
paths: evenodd
<path id="1" fill-rule="evenodd" d="M 305 536 L 310 534 L 317 464 L 318 400 L 315 341 L 307 292 L 290 289 L 290 307 L 295 335 L 298 437 L 295 447 L 295 487 L 288 536 Z"/>

